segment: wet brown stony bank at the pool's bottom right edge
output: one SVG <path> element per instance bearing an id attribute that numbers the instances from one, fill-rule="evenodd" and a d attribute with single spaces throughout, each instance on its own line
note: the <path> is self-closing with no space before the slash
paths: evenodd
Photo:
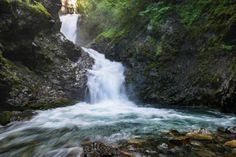
<path id="1" fill-rule="evenodd" d="M 188 137 L 188 133 L 191 133 L 191 136 Z M 236 148 L 233 147 L 234 139 L 234 134 L 219 131 L 210 132 L 203 128 L 187 133 L 170 130 L 155 139 L 145 139 L 145 142 L 138 147 L 135 147 L 135 144 L 139 143 L 136 142 L 136 139 L 130 144 L 128 141 L 127 143 L 119 143 L 121 146 L 119 149 L 129 150 L 133 154 L 140 154 L 140 156 L 234 157 L 234 149 Z M 142 140 L 142 138 L 138 138 L 138 140 Z"/>

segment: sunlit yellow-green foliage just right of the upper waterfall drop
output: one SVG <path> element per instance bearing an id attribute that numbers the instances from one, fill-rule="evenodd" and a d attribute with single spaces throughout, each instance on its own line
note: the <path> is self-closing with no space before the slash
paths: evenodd
<path id="1" fill-rule="evenodd" d="M 87 29 L 99 36 L 117 37 L 132 25 L 142 0 L 78 0 L 78 12 L 86 17 Z"/>

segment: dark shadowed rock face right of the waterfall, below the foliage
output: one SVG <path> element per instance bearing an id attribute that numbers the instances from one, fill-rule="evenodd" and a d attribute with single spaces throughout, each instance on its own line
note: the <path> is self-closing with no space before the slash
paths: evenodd
<path id="1" fill-rule="evenodd" d="M 162 36 L 166 36 L 164 32 Z M 99 39 L 92 47 L 125 64 L 127 89 L 132 99 L 162 104 L 205 105 L 236 113 L 236 75 L 232 68 L 235 65 L 234 53 L 217 50 L 204 55 L 198 52 L 197 46 L 177 38 L 175 44 L 179 44 L 178 50 L 182 52 L 155 56 L 152 54 L 156 51 L 155 46 L 148 41 L 147 34 L 131 37 Z"/>

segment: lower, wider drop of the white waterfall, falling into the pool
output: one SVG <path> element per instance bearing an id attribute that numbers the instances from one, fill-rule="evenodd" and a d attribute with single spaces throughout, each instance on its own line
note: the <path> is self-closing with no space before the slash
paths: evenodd
<path id="1" fill-rule="evenodd" d="M 91 103 L 104 100 L 126 99 L 124 88 L 124 67 L 112 62 L 93 49 L 83 48 L 94 60 L 92 70 L 88 70 L 88 88 Z"/>

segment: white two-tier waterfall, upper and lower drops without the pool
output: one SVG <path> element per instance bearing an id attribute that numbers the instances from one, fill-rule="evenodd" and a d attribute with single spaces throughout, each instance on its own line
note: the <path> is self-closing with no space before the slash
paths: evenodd
<path id="1" fill-rule="evenodd" d="M 79 14 L 67 14 L 60 17 L 61 32 L 65 37 L 76 42 L 77 21 Z M 124 88 L 124 67 L 121 63 L 110 61 L 103 54 L 89 48 L 83 48 L 95 61 L 92 70 L 88 70 L 88 88 L 90 102 L 106 100 L 127 100 Z"/>

